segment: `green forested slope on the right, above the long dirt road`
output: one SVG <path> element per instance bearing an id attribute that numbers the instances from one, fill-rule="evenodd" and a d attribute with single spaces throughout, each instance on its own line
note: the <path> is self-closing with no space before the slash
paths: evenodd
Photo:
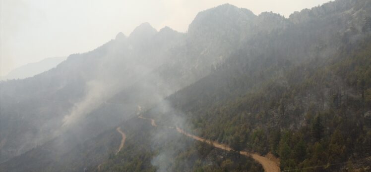
<path id="1" fill-rule="evenodd" d="M 343 162 L 371 156 L 368 41 L 351 52 L 291 66 L 278 79 L 247 89 L 244 96 L 202 102 L 200 107 L 207 108 L 185 108 L 180 103 L 185 100 L 177 99 L 182 91 L 170 99 L 186 112 L 193 132 L 203 137 L 237 151 L 272 152 L 280 158 L 281 170 L 322 166 L 307 171 L 338 171 Z M 212 96 L 235 94 L 226 92 Z"/>

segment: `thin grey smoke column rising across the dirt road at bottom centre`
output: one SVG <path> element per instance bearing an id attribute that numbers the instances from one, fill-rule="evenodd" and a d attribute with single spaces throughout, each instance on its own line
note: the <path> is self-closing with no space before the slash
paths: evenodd
<path id="1" fill-rule="evenodd" d="M 157 106 L 149 112 L 155 116 L 158 129 L 152 134 L 151 146 L 158 154 L 151 160 L 152 166 L 157 167 L 158 172 L 174 171 L 177 162 L 177 157 L 181 152 L 185 152 L 187 148 L 193 147 L 193 141 L 185 141 L 185 136 L 177 132 L 176 127 L 189 129 L 184 120 L 183 112 L 173 108 L 168 100 L 160 101 Z M 153 118 L 153 117 L 152 117 Z M 193 160 L 197 159 L 192 157 Z M 187 164 L 187 167 L 192 167 L 190 162 L 181 162 Z"/>

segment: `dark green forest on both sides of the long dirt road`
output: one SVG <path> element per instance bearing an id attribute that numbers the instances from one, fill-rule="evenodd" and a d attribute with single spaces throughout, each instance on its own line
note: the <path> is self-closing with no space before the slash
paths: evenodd
<path id="1" fill-rule="evenodd" d="M 215 102 L 199 95 L 196 98 L 205 101 L 199 102 L 200 108 L 178 108 L 183 108 L 184 117 L 193 126 L 191 132 L 231 145 L 236 151 L 271 152 L 279 157 L 283 171 L 362 171 L 360 167 L 367 167 L 371 156 L 371 43 L 368 38 L 349 46 L 356 48 L 287 67 L 281 78 L 268 79 L 242 96 Z M 232 97 L 236 94 L 233 90 L 238 89 L 215 96 Z M 174 94 L 169 102 L 185 101 L 175 97 L 183 96 Z M 145 115 L 156 117 L 161 125 L 171 125 L 167 121 L 172 122 L 172 113 L 179 109 L 159 114 L 161 110 L 155 107 Z M 262 170 L 252 159 L 193 141 L 171 129 L 160 128 L 163 135 L 157 139 L 167 141 L 153 151 L 148 149 L 152 145 L 148 134 L 159 131 L 147 130 L 148 124 L 133 120 L 141 125 L 135 126 L 136 131 L 130 124 L 123 125 L 130 133 L 126 146 L 117 156 L 110 156 L 101 166 L 103 171 L 159 170 L 151 165 L 151 157 L 160 149 L 175 152 L 175 159 L 167 160 L 171 165 L 160 171 Z"/>

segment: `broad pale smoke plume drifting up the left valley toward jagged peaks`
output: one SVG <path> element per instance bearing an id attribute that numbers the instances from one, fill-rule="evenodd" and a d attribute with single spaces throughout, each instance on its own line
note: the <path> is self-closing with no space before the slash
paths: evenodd
<path id="1" fill-rule="evenodd" d="M 100 47 L 106 48 L 103 56 L 91 55 L 90 58 L 97 58 L 93 59 L 97 61 L 97 69 L 91 78 L 88 77 L 83 98 L 74 103 L 69 113 L 63 117 L 62 128 L 83 122 L 102 105 L 121 104 L 126 108 L 124 111 L 128 111 L 134 109 L 137 104 L 157 104 L 178 89 L 177 86 L 167 84 L 156 71 L 170 58 L 168 49 L 159 47 L 169 43 L 167 40 L 160 43 L 154 41 L 162 39 L 154 36 L 153 34 L 158 32 L 150 27 L 148 23 L 144 23 L 128 38 L 120 33 L 115 40 Z M 119 93 L 120 100 L 113 100 Z M 110 116 L 107 115 L 107 118 Z"/>

